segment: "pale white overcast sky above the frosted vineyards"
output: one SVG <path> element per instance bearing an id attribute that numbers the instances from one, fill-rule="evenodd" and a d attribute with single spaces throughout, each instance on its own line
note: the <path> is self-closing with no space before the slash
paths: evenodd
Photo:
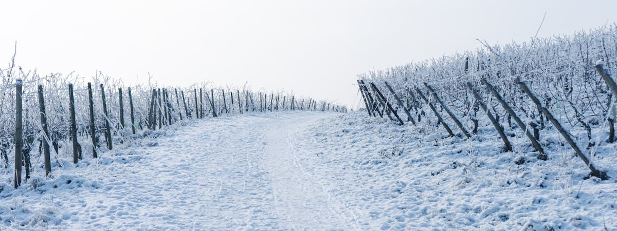
<path id="1" fill-rule="evenodd" d="M 617 22 L 617 1 L 3 1 L 0 67 L 249 83 L 359 105 L 356 75 Z M 2 61 L 4 60 L 4 61 Z M 4 64 L 1 64 L 1 63 Z M 139 78 L 137 78 L 139 76 Z"/>

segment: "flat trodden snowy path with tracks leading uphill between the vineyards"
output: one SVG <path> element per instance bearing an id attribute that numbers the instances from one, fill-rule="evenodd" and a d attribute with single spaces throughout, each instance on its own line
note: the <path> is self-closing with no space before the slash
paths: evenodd
<path id="1" fill-rule="evenodd" d="M 88 171 L 80 172 L 82 189 L 49 193 L 48 209 L 62 213 L 56 225 L 68 229 L 358 229 L 294 156 L 292 135 L 334 116 L 199 121 L 156 139 L 154 147 L 117 150 L 93 161 L 94 168 L 73 169 Z"/>

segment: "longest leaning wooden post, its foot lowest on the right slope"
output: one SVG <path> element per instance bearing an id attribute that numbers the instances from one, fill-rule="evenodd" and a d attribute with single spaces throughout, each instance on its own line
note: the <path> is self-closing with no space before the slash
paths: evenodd
<path id="1" fill-rule="evenodd" d="M 581 158 L 581 160 L 587 165 L 587 167 L 589 167 L 589 170 L 591 170 L 591 176 L 598 177 L 602 180 L 608 179 L 607 172 L 599 171 L 598 169 L 595 168 L 591 160 L 589 160 L 589 158 L 587 158 L 587 156 L 582 153 L 581 148 L 579 148 L 578 145 L 576 145 L 576 142 L 574 142 L 574 140 L 572 139 L 572 137 L 570 137 L 568 132 L 561 126 L 559 121 L 555 120 L 555 117 L 553 117 L 553 114 L 550 113 L 550 111 L 547 108 L 542 107 L 540 100 L 538 100 L 536 95 L 534 95 L 531 92 L 531 90 L 529 90 L 529 87 L 527 87 L 527 85 L 523 83 L 521 79 L 518 77 L 516 78 L 516 82 L 518 82 L 518 86 L 520 86 L 521 89 L 523 89 L 523 91 L 529 96 L 531 101 L 536 103 L 537 107 L 542 109 L 542 113 L 544 113 L 544 116 L 546 116 L 546 118 L 549 119 L 549 121 L 553 124 L 553 126 L 555 126 L 557 131 L 559 131 L 561 136 L 563 136 L 563 139 L 565 139 L 566 142 L 568 142 L 568 144 L 570 145 L 570 147 L 574 149 L 574 152 L 576 153 L 576 155 L 578 155 L 579 158 Z"/>

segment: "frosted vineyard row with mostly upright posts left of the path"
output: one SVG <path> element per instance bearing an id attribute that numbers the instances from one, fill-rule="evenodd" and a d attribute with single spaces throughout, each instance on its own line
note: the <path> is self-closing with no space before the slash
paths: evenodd
<path id="1" fill-rule="evenodd" d="M 204 82 L 181 88 L 149 82 L 126 87 L 101 72 L 88 81 L 74 73 L 39 75 L 22 70 L 14 59 L 0 69 L 0 155 L 3 174 L 13 175 L 3 180 L 15 188 L 183 121 L 286 110 L 347 111 L 325 100 L 247 86 Z"/>

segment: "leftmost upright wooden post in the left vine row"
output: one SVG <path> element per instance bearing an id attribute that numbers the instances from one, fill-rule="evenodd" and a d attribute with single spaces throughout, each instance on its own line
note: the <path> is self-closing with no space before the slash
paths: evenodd
<path id="1" fill-rule="evenodd" d="M 15 83 L 15 188 L 22 184 L 22 79 Z"/>

